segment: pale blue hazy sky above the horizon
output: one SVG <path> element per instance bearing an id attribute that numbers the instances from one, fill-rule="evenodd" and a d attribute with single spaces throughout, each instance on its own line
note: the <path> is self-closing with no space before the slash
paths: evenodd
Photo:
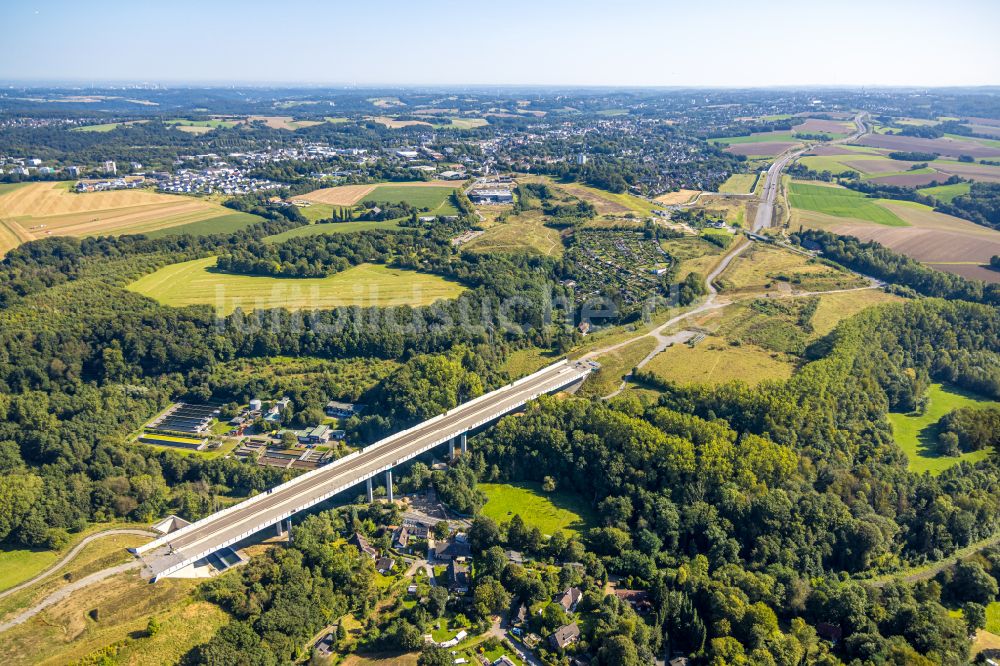
<path id="1" fill-rule="evenodd" d="M 0 0 L 0 80 L 1000 84 L 1000 0 Z"/>

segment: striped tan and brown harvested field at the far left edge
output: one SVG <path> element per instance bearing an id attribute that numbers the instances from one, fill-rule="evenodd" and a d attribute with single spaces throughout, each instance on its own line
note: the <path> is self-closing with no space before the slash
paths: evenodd
<path id="1" fill-rule="evenodd" d="M 0 253 L 47 236 L 147 233 L 232 214 L 204 199 L 148 190 L 77 194 L 68 183 L 30 183 L 0 195 Z"/>

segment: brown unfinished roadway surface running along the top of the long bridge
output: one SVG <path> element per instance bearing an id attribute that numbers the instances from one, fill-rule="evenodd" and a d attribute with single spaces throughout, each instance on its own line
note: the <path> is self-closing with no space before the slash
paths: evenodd
<path id="1" fill-rule="evenodd" d="M 388 441 L 383 440 L 384 443 L 373 445 L 360 455 L 345 459 L 342 464 L 321 467 L 287 485 L 278 486 L 266 496 L 258 496 L 252 502 L 244 501 L 203 525 L 196 523 L 184 528 L 175 537 L 168 536 L 161 547 L 143 553 L 143 560 L 154 576 L 159 575 L 200 553 L 221 548 L 254 528 L 277 523 L 284 514 L 315 504 L 334 488 L 349 487 L 373 472 L 395 466 L 430 446 L 443 434 L 470 430 L 494 414 L 509 412 L 526 400 L 563 388 L 585 377 L 591 367 L 584 362 L 553 366 L 526 382 L 498 389 L 489 394 L 491 397 L 466 403 L 442 418 L 387 438 Z"/>

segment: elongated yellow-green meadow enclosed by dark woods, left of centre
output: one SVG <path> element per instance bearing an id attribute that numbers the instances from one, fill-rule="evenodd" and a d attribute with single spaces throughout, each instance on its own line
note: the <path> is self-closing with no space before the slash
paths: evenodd
<path id="1" fill-rule="evenodd" d="M 214 268 L 215 257 L 171 264 L 133 282 L 128 289 L 164 305 L 210 305 L 221 314 L 237 307 L 250 311 L 429 305 L 465 291 L 453 280 L 380 264 L 359 264 L 324 278 L 238 275 Z"/>

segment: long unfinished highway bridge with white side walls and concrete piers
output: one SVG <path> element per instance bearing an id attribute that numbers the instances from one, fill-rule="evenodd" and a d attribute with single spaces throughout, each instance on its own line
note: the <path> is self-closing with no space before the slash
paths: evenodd
<path id="1" fill-rule="evenodd" d="M 541 395 L 579 384 L 596 367 L 588 361 L 561 360 L 329 465 L 130 550 L 142 558 L 155 581 L 176 574 L 263 529 L 277 525 L 280 531 L 282 521 L 359 483 L 367 483 L 368 498 L 371 499 L 371 480 L 379 474 L 386 476 L 386 488 L 391 500 L 393 467 L 446 442 L 449 443 L 450 453 L 454 454 L 458 438 L 464 452 L 466 435 L 470 431 L 520 409 Z"/>

